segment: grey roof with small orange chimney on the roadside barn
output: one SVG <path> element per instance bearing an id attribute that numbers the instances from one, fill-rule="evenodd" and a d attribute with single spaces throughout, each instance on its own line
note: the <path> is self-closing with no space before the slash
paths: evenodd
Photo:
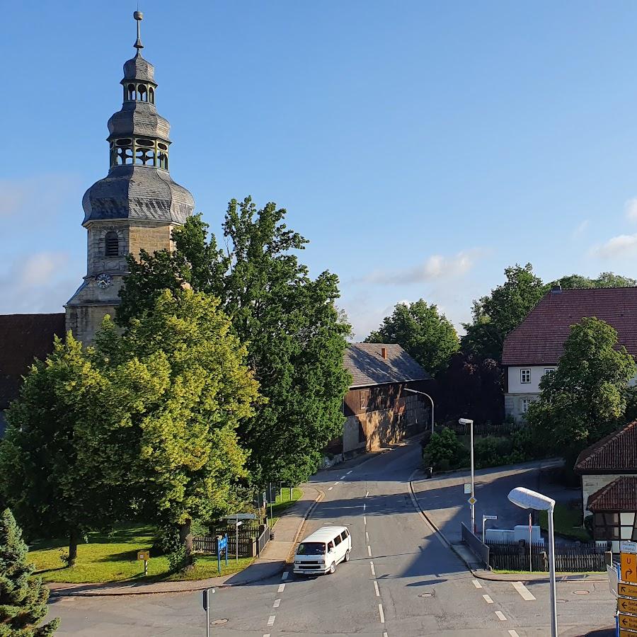
<path id="1" fill-rule="evenodd" d="M 387 348 L 386 360 L 381 348 Z M 352 374 L 350 389 L 431 378 L 400 345 L 393 343 L 352 343 L 343 362 Z"/>

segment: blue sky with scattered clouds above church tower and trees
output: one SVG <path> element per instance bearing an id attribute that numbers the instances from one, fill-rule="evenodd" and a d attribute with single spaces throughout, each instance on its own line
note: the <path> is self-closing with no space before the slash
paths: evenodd
<path id="1" fill-rule="evenodd" d="M 0 313 L 63 311 L 86 275 L 135 8 L 0 0 Z M 233 197 L 285 207 L 355 340 L 420 298 L 461 330 L 515 263 L 637 277 L 637 3 L 139 8 L 171 175 L 217 233 Z"/>

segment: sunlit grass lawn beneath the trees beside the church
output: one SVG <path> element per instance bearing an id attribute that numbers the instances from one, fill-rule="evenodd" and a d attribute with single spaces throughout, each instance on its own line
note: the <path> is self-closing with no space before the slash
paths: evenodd
<path id="1" fill-rule="evenodd" d="M 36 575 L 45 582 L 103 583 L 124 581 L 201 580 L 217 573 L 216 556 L 197 556 L 195 568 L 188 573 L 169 573 L 165 556 L 153 557 L 148 563 L 148 575 L 144 577 L 144 563 L 137 561 L 137 551 L 150 549 L 154 542 L 154 527 L 122 527 L 108 535 L 91 533 L 87 544 L 77 547 L 77 563 L 74 568 L 64 566 L 62 556 L 69 547 L 64 540 L 42 541 L 30 546 L 29 558 L 35 563 Z M 246 568 L 253 558 L 222 560 L 221 575 L 229 575 Z"/>

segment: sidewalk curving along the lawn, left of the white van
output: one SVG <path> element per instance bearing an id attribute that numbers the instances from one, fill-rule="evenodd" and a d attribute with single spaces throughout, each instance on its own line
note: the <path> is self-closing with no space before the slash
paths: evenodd
<path id="1" fill-rule="evenodd" d="M 263 554 L 239 573 L 206 580 L 156 583 L 114 584 L 47 584 L 51 597 L 111 597 L 117 595 L 152 595 L 156 593 L 190 592 L 212 587 L 245 586 L 279 575 L 285 570 L 287 558 L 294 550 L 297 536 L 305 520 L 311 515 L 323 492 L 309 485 L 301 485 L 303 496 L 280 517 L 274 526 L 275 539 L 270 540 Z"/>

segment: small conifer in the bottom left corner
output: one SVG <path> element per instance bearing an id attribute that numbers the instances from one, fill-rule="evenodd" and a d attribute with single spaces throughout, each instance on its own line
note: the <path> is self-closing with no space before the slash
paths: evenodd
<path id="1" fill-rule="evenodd" d="M 35 566 L 28 562 L 22 531 L 11 511 L 0 517 L 0 637 L 49 637 L 59 618 L 38 626 L 47 614 L 49 590 L 40 578 L 32 578 Z"/>

